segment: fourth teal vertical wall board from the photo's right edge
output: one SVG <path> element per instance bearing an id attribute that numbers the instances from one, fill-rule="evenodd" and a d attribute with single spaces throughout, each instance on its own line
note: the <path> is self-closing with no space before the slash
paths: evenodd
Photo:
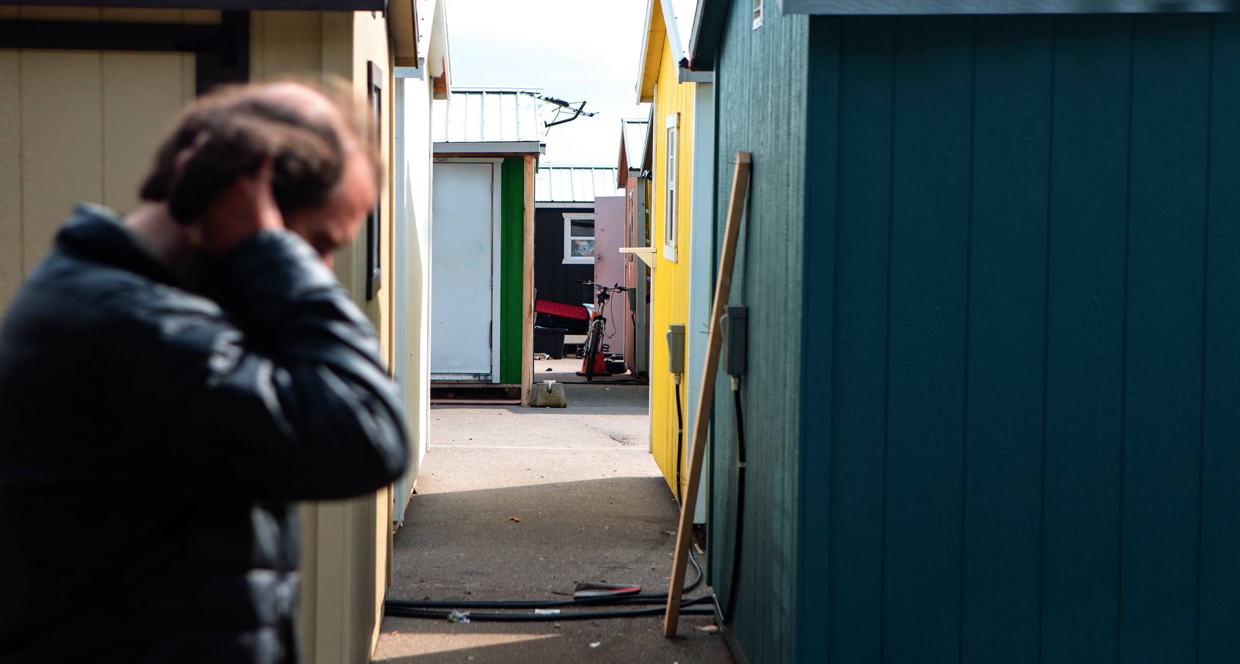
<path id="1" fill-rule="evenodd" d="M 1035 662 L 1054 25 L 977 25 L 962 662 Z"/>

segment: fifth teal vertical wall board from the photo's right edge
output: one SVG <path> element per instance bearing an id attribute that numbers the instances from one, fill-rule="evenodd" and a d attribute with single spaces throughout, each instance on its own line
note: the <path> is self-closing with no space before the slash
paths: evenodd
<path id="1" fill-rule="evenodd" d="M 895 27 L 883 585 L 895 662 L 960 657 L 976 24 Z"/>

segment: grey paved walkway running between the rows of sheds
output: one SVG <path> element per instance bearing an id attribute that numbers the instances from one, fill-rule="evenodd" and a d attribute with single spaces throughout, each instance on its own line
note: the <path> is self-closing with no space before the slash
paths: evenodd
<path id="1" fill-rule="evenodd" d="M 647 452 L 646 388 L 567 389 L 568 409 L 432 410 L 389 597 L 562 600 L 574 581 L 601 580 L 667 590 L 677 508 Z M 389 617 L 374 660 L 732 662 L 718 634 L 697 629 L 713 623 L 686 616 L 681 636 L 665 639 L 660 617 L 558 626 Z"/>

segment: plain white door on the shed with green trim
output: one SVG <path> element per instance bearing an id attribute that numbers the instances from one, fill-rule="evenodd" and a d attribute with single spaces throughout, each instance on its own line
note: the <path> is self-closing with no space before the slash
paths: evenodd
<path id="1" fill-rule="evenodd" d="M 492 250 L 498 204 L 495 164 L 435 164 L 430 292 L 430 373 L 491 377 Z M 498 339 L 494 339 L 498 343 Z"/>

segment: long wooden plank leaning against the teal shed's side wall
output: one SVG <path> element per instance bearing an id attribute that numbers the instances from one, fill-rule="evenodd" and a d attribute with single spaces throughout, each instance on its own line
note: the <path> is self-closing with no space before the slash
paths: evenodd
<path id="1" fill-rule="evenodd" d="M 719 347 L 723 344 L 723 313 L 732 294 L 732 266 L 737 260 L 737 239 L 745 209 L 745 192 L 749 187 L 749 152 L 737 152 L 737 171 L 732 176 L 732 198 L 728 199 L 728 227 L 723 238 L 723 255 L 719 258 L 719 277 L 714 286 L 714 306 L 711 307 L 711 332 L 707 336 L 706 365 L 702 368 L 702 391 L 693 414 L 693 447 L 689 451 L 688 486 L 681 497 L 681 523 L 676 533 L 676 555 L 672 557 L 672 581 L 667 590 L 667 613 L 663 636 L 676 636 L 681 619 L 681 595 L 684 592 L 684 567 L 688 565 L 689 540 L 693 539 L 693 507 L 697 504 L 698 483 L 702 478 L 702 458 L 706 456 L 706 427 L 714 406 L 714 378 L 719 372 Z"/>

